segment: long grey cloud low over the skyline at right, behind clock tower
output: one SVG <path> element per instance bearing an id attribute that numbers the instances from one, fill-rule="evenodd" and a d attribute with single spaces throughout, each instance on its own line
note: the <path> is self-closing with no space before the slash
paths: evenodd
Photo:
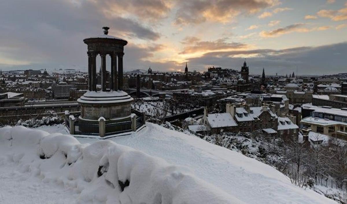
<path id="1" fill-rule="evenodd" d="M 347 72 L 346 59 L 347 42 L 318 47 L 300 47 L 285 50 L 249 50 L 232 52 L 210 52 L 202 57 L 191 58 L 191 67 L 199 71 L 206 66 L 222 66 L 224 68 L 240 69 L 244 58 L 232 57 L 237 54 L 258 54 L 257 57 L 247 58 L 250 71 L 261 74 L 263 67 L 266 74 L 286 74 L 296 71 L 306 75 L 336 74 Z"/>

